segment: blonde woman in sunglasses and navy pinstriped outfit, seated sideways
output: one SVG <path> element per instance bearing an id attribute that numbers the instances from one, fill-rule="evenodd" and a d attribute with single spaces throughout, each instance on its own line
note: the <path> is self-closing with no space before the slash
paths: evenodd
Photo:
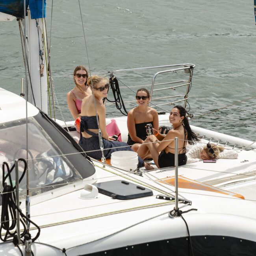
<path id="1" fill-rule="evenodd" d="M 83 99 L 81 108 L 81 122 L 80 122 L 80 141 L 79 145 L 87 155 L 101 159 L 102 152 L 100 150 L 100 141 L 98 137 L 98 124 L 102 134 L 102 141 L 104 147 L 104 156 L 111 157 L 111 153 L 115 151 L 132 149 L 125 142 L 115 141 L 113 137 L 109 136 L 106 130 L 106 108 L 103 103 L 103 98 L 108 96 L 109 81 L 107 78 L 100 76 L 92 76 L 88 79 L 88 85 L 93 90 L 93 95 Z M 96 112 L 96 109 L 97 112 Z M 98 115 L 98 124 L 96 114 Z M 146 166 L 143 160 L 139 158 L 138 167 Z"/>

